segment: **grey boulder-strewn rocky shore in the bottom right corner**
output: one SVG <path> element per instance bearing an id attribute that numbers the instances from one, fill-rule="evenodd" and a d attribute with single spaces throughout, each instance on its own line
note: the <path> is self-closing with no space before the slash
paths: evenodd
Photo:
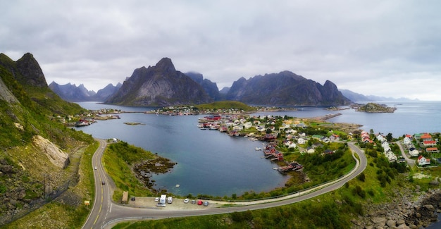
<path id="1" fill-rule="evenodd" d="M 392 202 L 366 204 L 365 216 L 353 218 L 353 229 L 425 228 L 441 213 L 441 190 L 397 189 Z"/>

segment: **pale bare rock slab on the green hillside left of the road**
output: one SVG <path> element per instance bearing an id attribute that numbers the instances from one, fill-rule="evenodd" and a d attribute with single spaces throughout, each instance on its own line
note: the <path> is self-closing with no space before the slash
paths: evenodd
<path id="1" fill-rule="evenodd" d="M 49 158 L 49 161 L 51 161 L 51 163 L 53 163 L 55 166 L 60 168 L 66 168 L 66 166 L 68 166 L 70 162 L 69 155 L 61 151 L 61 149 L 59 149 L 54 143 L 40 135 L 35 135 L 32 140 L 37 147 L 42 149 L 42 151 Z"/>

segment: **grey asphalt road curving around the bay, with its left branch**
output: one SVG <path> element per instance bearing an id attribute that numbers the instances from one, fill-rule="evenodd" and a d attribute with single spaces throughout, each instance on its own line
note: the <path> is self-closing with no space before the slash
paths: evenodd
<path id="1" fill-rule="evenodd" d="M 337 190 L 342 187 L 345 182 L 352 180 L 367 166 L 367 159 L 363 151 L 356 147 L 352 142 L 349 142 L 349 148 L 352 150 L 352 154 L 358 155 L 360 160 L 356 160 L 356 168 L 349 174 L 344 175 L 342 178 L 333 182 L 328 182 L 319 187 L 314 187 L 313 190 L 306 190 L 297 194 L 292 194 L 287 197 L 281 197 L 278 199 L 267 199 L 264 201 L 249 202 L 249 205 L 240 205 L 223 208 L 209 208 L 204 210 L 166 210 L 166 209 L 140 209 L 132 208 L 128 206 L 121 206 L 113 204 L 111 202 L 110 190 L 107 185 L 106 173 L 100 163 L 101 156 L 106 147 L 104 140 L 99 140 L 100 147 L 92 157 L 92 166 L 97 166 L 95 173 L 95 199 L 93 209 L 87 218 L 87 221 L 83 228 L 111 228 L 111 225 L 120 221 L 129 221 L 135 219 L 157 219 L 157 218 L 171 218 L 171 217 L 183 217 L 183 216 L 203 216 L 218 213 L 230 213 L 234 211 L 247 211 L 256 209 L 266 209 L 275 206 L 282 206 L 286 204 L 293 204 L 305 199 L 317 197 L 326 192 Z M 106 185 L 101 185 L 101 181 L 104 180 Z M 234 204 L 230 202 L 230 204 Z M 241 203 L 243 204 L 243 203 Z"/>

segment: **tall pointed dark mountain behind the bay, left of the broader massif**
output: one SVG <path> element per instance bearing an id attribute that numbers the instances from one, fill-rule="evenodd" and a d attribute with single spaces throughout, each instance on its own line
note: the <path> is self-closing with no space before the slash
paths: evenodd
<path id="1" fill-rule="evenodd" d="M 156 66 L 137 68 L 106 104 L 128 106 L 168 106 L 205 104 L 213 101 L 204 88 L 184 73 L 175 70 L 170 58 Z"/>

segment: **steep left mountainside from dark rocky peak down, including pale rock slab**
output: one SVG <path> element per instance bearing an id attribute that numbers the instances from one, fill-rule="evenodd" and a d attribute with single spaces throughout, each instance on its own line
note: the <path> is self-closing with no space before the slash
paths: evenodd
<path id="1" fill-rule="evenodd" d="M 69 192 L 78 179 L 70 156 L 93 140 L 58 120 L 84 109 L 49 89 L 32 54 L 0 54 L 0 77 L 1 227 Z"/>

